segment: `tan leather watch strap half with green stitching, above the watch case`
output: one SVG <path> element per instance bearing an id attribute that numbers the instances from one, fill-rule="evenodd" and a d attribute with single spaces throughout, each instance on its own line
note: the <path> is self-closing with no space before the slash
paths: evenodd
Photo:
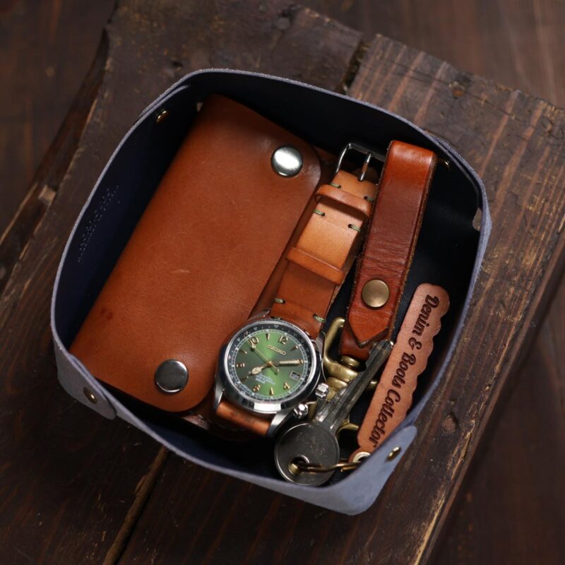
<path id="1" fill-rule="evenodd" d="M 270 315 L 295 323 L 316 338 L 362 241 L 376 185 L 338 171 L 316 191 L 317 206 L 297 244 Z"/>

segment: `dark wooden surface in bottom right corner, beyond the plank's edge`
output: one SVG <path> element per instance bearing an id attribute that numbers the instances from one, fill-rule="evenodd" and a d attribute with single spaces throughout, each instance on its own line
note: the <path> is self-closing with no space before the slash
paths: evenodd
<path id="1" fill-rule="evenodd" d="M 434 563 L 565 563 L 564 312 L 561 285 L 481 440 Z"/>

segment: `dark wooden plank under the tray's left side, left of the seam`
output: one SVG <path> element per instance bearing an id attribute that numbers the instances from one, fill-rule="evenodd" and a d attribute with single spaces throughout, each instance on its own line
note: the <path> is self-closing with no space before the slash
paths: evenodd
<path id="1" fill-rule="evenodd" d="M 89 86 L 37 177 L 44 186 L 55 171 L 57 191 L 47 192 L 0 295 L 3 562 L 114 562 L 165 460 L 143 434 L 61 391 L 49 333 L 64 242 L 121 136 L 153 97 L 202 66 L 308 76 L 341 88 L 359 37 L 283 1 L 219 1 L 214 9 L 196 1 L 119 4 Z"/>

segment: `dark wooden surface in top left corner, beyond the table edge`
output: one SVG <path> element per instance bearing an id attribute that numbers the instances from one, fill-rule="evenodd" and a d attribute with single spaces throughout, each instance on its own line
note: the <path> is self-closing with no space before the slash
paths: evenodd
<path id="1" fill-rule="evenodd" d="M 113 5 L 114 0 L 0 2 L 0 239 L 30 184 L 33 189 L 32 177 L 88 72 Z M 57 184 L 48 186 L 57 190 Z M 28 198 L 41 208 L 38 196 Z M 14 253 L 28 237 L 12 232 Z M 0 251 L 0 283 L 9 275 L 3 260 Z"/>

